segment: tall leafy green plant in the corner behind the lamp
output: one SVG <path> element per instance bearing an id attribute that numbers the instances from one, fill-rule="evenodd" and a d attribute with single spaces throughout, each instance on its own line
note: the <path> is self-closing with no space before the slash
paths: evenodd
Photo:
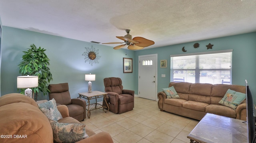
<path id="1" fill-rule="evenodd" d="M 32 88 L 34 100 L 37 101 L 39 90 L 44 94 L 48 94 L 48 84 L 52 80 L 50 65 L 47 55 L 44 53 L 44 48 L 37 48 L 36 45 L 30 45 L 28 51 L 23 51 L 22 62 L 18 65 L 20 74 L 38 76 L 38 87 Z M 24 89 L 25 90 L 25 89 Z M 24 90 L 21 93 L 24 94 Z"/>

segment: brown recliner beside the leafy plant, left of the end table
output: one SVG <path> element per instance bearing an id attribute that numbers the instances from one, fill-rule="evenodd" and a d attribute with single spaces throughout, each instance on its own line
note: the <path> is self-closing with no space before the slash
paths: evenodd
<path id="1" fill-rule="evenodd" d="M 49 84 L 49 99 L 54 98 L 57 105 L 66 105 L 70 117 L 83 121 L 86 118 L 86 102 L 80 98 L 71 99 L 68 83 Z"/>

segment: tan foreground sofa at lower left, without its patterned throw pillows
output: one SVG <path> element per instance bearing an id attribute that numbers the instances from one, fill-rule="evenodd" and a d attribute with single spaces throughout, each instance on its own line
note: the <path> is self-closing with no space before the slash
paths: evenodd
<path id="1" fill-rule="evenodd" d="M 65 105 L 57 106 L 63 119 L 60 123 L 80 123 L 69 117 Z M 113 143 L 109 133 L 95 134 L 86 128 L 88 138 L 77 143 Z M 53 143 L 52 127 L 48 118 L 38 108 L 37 103 L 19 93 L 6 94 L 0 97 L 0 143 Z M 17 138 L 19 137 L 24 138 Z M 21 135 L 21 136 L 20 136 Z"/>

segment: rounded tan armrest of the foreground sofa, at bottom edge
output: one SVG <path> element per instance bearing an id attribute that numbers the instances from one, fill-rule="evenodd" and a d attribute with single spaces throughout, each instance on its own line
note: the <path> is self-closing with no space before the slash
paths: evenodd
<path id="1" fill-rule="evenodd" d="M 112 137 L 107 132 L 100 132 L 76 143 L 114 143 Z"/>

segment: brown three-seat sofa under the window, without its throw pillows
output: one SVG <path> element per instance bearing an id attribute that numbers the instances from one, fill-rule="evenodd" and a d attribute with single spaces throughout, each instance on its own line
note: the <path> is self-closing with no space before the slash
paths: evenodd
<path id="1" fill-rule="evenodd" d="M 245 86 L 227 84 L 201 84 L 188 82 L 170 82 L 180 98 L 166 98 L 164 92 L 158 93 L 158 108 L 181 116 L 202 119 L 206 113 L 217 114 L 230 118 L 246 120 L 246 101 L 236 110 L 223 106 L 218 102 L 228 89 L 245 93 Z"/>

